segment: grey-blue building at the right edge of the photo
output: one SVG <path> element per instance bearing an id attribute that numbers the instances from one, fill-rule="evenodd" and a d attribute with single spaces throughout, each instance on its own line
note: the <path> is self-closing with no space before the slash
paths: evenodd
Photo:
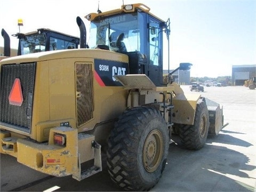
<path id="1" fill-rule="evenodd" d="M 245 80 L 256 76 L 256 65 L 233 65 L 232 85 L 243 85 Z"/>

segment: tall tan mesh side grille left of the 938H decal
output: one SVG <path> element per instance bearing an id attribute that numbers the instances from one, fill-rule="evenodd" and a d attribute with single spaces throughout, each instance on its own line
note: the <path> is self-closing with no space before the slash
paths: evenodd
<path id="1" fill-rule="evenodd" d="M 92 65 L 76 63 L 77 127 L 93 118 L 93 71 Z"/>

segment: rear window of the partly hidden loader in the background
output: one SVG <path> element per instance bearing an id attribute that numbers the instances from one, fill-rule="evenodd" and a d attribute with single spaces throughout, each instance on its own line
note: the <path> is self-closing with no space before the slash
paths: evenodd
<path id="1" fill-rule="evenodd" d="M 45 51 L 45 46 L 45 34 L 34 34 L 20 38 L 20 48 L 22 55 Z"/>

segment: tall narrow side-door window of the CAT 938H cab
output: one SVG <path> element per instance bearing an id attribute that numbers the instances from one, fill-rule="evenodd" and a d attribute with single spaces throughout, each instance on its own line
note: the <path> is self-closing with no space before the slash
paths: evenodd
<path id="1" fill-rule="evenodd" d="M 159 35 L 159 23 L 150 21 L 149 27 L 149 52 L 150 52 L 150 65 L 158 66 L 159 59 L 159 46 L 158 46 L 158 35 Z"/>

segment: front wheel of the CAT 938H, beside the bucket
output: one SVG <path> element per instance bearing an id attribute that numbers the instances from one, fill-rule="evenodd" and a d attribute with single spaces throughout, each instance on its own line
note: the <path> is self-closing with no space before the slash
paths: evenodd
<path id="1" fill-rule="evenodd" d="M 179 135 L 181 142 L 188 149 L 201 149 L 207 139 L 210 121 L 206 103 L 197 102 L 194 125 L 180 126 Z"/>

